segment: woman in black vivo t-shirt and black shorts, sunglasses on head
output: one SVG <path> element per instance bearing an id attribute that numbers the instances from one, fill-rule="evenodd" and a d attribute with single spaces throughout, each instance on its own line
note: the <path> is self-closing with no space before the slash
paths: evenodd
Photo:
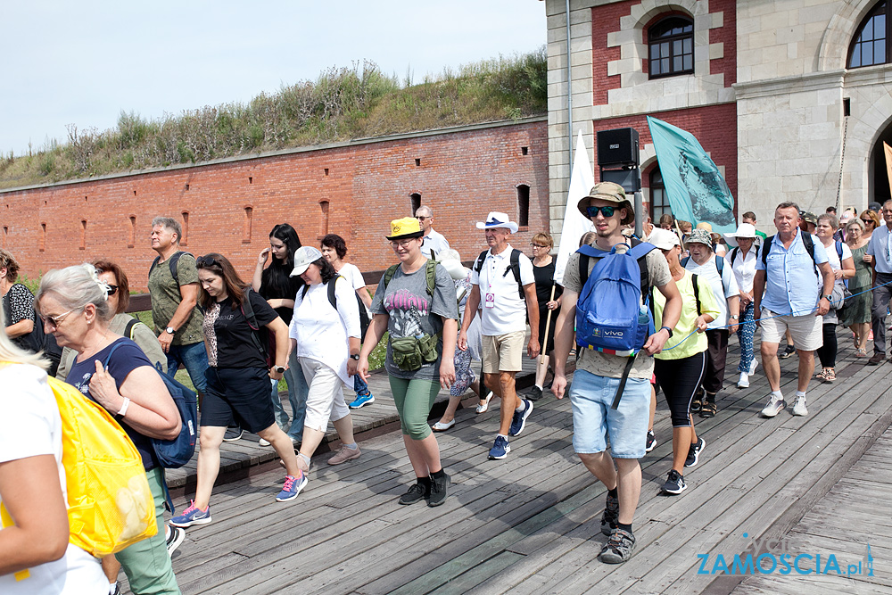
<path id="1" fill-rule="evenodd" d="M 276 425 L 269 399 L 269 379 L 279 380 L 288 361 L 288 327 L 266 300 L 250 290 L 223 255 L 211 252 L 196 259 L 195 265 L 198 303 L 204 310 L 202 331 L 208 350 L 208 387 L 202 401 L 195 500 L 183 514 L 170 520 L 171 525 L 178 527 L 211 522 L 211 492 L 220 469 L 220 444 L 234 419 L 244 429 L 267 440 L 285 462 L 288 475 L 277 501 L 294 500 L 307 483 L 297 467 L 291 440 Z M 251 318 L 255 318 L 256 328 Z M 266 335 L 260 333 L 260 326 L 276 333 L 276 352 L 271 354 L 276 365 L 272 368 L 267 368 L 263 352 Z"/>

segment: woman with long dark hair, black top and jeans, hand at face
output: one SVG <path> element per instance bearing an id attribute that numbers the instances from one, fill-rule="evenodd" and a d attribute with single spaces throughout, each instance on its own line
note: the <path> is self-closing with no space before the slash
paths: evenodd
<path id="1" fill-rule="evenodd" d="M 276 310 L 285 325 L 291 324 L 294 310 L 294 296 L 303 286 L 301 277 L 291 277 L 294 268 L 294 252 L 301 247 L 301 238 L 293 227 L 287 223 L 279 223 L 269 232 L 269 247 L 260 251 L 257 266 L 252 277 L 252 289 L 260 293 L 269 307 Z M 267 260 L 269 266 L 264 269 Z M 291 403 L 291 426 L 288 437 L 298 444 L 303 439 L 303 418 L 307 412 L 307 393 L 310 387 L 303 378 L 303 370 L 294 354 L 288 359 L 285 370 L 285 384 L 288 385 L 288 402 Z M 288 414 L 282 408 L 279 398 L 278 383 L 272 385 L 273 411 L 276 423 L 285 430 L 288 425 Z M 269 442 L 260 439 L 260 446 L 269 446 Z"/>

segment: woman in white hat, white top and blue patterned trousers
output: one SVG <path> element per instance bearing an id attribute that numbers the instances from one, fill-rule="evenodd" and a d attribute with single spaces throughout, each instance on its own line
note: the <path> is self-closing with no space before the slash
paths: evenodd
<path id="1" fill-rule="evenodd" d="M 749 386 L 749 376 L 756 373 L 758 360 L 753 355 L 753 336 L 756 335 L 756 322 L 753 320 L 753 277 L 756 277 L 756 226 L 741 223 L 737 230 L 725 234 L 728 244 L 734 246 L 725 255 L 725 262 L 734 271 L 740 288 L 740 324 L 737 339 L 740 342 L 740 373 L 738 388 Z"/>

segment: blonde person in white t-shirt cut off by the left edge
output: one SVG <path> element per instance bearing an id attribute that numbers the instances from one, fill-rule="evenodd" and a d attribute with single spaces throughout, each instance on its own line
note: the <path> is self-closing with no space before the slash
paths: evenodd
<path id="1" fill-rule="evenodd" d="M 9 512 L 0 522 L 0 593 L 105 595 L 98 560 L 69 542 L 62 417 L 48 362 L 12 343 L 4 319 L 0 310 L 0 506 Z"/>

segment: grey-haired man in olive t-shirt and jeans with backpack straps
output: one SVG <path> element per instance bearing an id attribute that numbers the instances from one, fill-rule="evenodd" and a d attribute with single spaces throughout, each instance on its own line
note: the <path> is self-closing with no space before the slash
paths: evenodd
<path id="1" fill-rule="evenodd" d="M 149 269 L 149 294 L 152 296 L 155 334 L 167 354 L 167 373 L 172 378 L 183 364 L 201 398 L 207 384 L 204 371 L 208 369 L 208 353 L 202 334 L 204 316 L 197 308 L 195 257 L 180 251 L 182 235 L 182 227 L 176 219 L 152 219 L 152 249 L 158 256 Z"/>

